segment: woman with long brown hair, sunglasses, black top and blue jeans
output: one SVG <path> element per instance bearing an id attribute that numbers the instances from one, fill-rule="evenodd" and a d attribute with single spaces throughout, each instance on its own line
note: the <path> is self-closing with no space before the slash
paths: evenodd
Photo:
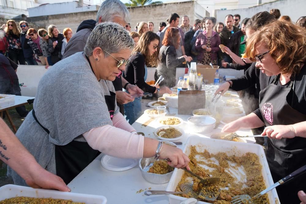
<path id="1" fill-rule="evenodd" d="M 148 85 L 147 79 L 147 64 L 158 64 L 159 54 L 159 36 L 156 33 L 148 31 L 141 35 L 137 46 L 132 51 L 129 58 L 129 63 L 125 66 L 123 78 L 130 84 L 138 86 L 144 92 L 149 93 L 171 93 L 168 87 L 155 87 Z M 136 97 L 134 101 L 124 104 L 124 113 L 129 124 L 133 124 L 142 113 L 141 97 Z"/>

